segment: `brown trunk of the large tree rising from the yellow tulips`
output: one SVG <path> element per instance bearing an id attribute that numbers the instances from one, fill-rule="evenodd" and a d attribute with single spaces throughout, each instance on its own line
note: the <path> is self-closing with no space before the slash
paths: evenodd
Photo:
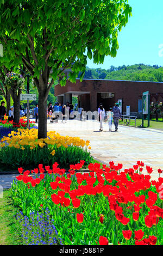
<path id="1" fill-rule="evenodd" d="M 39 89 L 39 130 L 38 139 L 47 138 L 47 96 Z"/>

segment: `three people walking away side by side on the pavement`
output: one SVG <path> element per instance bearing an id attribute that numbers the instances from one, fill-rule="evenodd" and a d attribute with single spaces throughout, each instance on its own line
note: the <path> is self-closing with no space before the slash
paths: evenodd
<path id="1" fill-rule="evenodd" d="M 118 107 L 118 103 L 115 103 L 114 107 L 110 107 L 105 118 L 105 109 L 102 103 L 98 107 L 98 120 L 100 122 L 99 131 L 103 131 L 103 121 L 108 121 L 109 132 L 111 132 L 112 120 L 114 121 L 115 131 L 118 130 L 118 123 L 121 119 L 121 109 Z"/>

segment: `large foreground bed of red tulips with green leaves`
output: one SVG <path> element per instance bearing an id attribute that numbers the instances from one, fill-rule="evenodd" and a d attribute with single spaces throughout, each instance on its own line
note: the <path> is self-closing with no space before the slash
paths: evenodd
<path id="1" fill-rule="evenodd" d="M 64 245 L 163 245 L 163 178 L 151 180 L 153 169 L 137 161 L 133 168 L 110 162 L 70 165 L 69 173 L 54 163 L 23 172 L 11 187 L 14 204 L 24 215 L 39 211 L 54 220 Z M 45 173 L 46 172 L 46 173 Z M 145 170 L 144 170 L 145 172 Z"/>

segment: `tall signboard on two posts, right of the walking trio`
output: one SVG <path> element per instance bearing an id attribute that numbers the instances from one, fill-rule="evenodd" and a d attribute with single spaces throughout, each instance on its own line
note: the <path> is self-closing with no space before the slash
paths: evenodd
<path id="1" fill-rule="evenodd" d="M 150 94 L 149 91 L 142 94 L 142 127 L 144 127 L 144 114 L 148 115 L 148 126 L 150 122 Z"/>

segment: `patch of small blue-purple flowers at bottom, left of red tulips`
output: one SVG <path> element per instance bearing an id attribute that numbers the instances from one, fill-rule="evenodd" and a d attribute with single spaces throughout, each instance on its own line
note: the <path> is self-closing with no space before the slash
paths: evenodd
<path id="1" fill-rule="evenodd" d="M 16 220 L 21 230 L 23 245 L 60 245 L 58 231 L 50 220 L 49 210 L 45 214 L 30 212 L 29 218 L 18 212 Z"/>

